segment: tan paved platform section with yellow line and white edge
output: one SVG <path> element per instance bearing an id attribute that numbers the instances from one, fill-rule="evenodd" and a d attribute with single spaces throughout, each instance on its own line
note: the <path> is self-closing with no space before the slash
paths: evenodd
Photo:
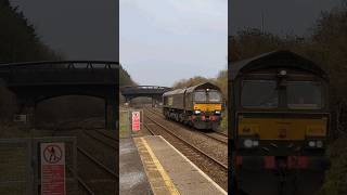
<path id="1" fill-rule="evenodd" d="M 160 135 L 133 140 L 154 194 L 227 194 Z"/>

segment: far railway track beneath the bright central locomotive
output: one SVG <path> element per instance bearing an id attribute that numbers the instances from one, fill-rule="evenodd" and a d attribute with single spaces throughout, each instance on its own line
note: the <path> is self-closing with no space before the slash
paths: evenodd
<path id="1" fill-rule="evenodd" d="M 146 110 L 151 112 L 152 114 L 165 119 L 165 117 L 163 116 L 162 113 L 157 112 L 157 110 L 154 110 L 154 109 L 151 109 L 151 108 L 145 108 Z M 198 131 L 198 130 L 191 130 L 191 129 L 188 129 L 187 126 L 183 126 L 181 123 L 177 123 L 178 126 L 180 126 L 182 129 L 185 129 L 188 131 L 193 131 L 195 133 L 198 133 L 198 134 L 202 134 L 204 136 L 207 136 L 207 138 L 210 138 L 213 140 L 216 140 L 222 144 L 228 144 L 228 135 L 226 133 L 222 133 L 222 132 L 218 132 L 218 131 L 213 131 L 213 132 L 202 132 L 202 131 Z"/>

